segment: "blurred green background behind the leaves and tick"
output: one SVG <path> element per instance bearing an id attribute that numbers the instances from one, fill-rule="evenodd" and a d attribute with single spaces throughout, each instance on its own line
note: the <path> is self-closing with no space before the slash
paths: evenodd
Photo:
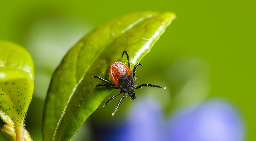
<path id="1" fill-rule="evenodd" d="M 27 48 L 35 63 L 35 90 L 26 118 L 26 128 L 35 141 L 42 140 L 42 109 L 51 75 L 68 49 L 97 25 L 139 11 L 170 11 L 177 15 L 137 71 L 140 83 L 169 87 L 165 93 L 171 94 L 173 103 L 162 98 L 167 113 L 190 102 L 219 97 L 240 113 L 246 129 L 245 140 L 256 140 L 255 0 L 1 0 L 0 3 L 0 39 Z M 193 92 L 190 99 L 175 95 L 187 94 L 185 91 Z M 157 92 L 157 97 L 161 95 L 159 90 L 151 92 Z M 140 93 L 142 90 L 137 95 Z M 98 108 L 92 116 L 105 111 L 111 117 L 116 101 L 112 103 L 107 109 Z M 93 120 L 97 118 L 89 119 Z M 89 121 L 82 127 L 83 133 L 73 140 L 82 138 L 79 134 L 91 136 Z M 1 133 L 0 140 L 8 139 Z"/>

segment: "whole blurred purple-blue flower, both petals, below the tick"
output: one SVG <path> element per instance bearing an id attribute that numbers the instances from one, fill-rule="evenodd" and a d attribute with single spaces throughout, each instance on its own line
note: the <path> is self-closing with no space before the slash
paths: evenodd
<path id="1" fill-rule="evenodd" d="M 135 102 L 135 101 L 134 101 Z M 244 127 L 237 111 L 222 100 L 185 107 L 171 118 L 162 117 L 153 98 L 134 103 L 125 124 L 108 130 L 111 141 L 243 141 Z M 104 131 L 103 131 L 104 132 Z"/>

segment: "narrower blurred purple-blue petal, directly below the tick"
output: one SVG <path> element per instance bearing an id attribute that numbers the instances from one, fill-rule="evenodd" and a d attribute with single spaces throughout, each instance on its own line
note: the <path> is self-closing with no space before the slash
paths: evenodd
<path id="1" fill-rule="evenodd" d="M 143 98 L 133 105 L 127 125 L 123 130 L 123 141 L 158 141 L 162 128 L 160 106 L 152 98 Z"/>

